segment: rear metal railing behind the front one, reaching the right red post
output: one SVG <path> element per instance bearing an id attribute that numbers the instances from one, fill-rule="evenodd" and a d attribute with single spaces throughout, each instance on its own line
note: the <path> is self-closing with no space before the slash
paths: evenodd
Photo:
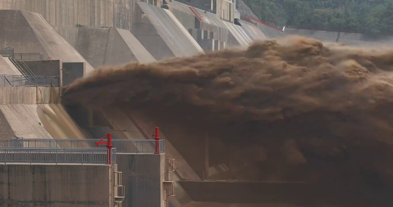
<path id="1" fill-rule="evenodd" d="M 43 147 L 43 148 L 105 148 L 95 144 L 97 139 L 23 139 L 0 140 L 0 147 Z M 105 141 L 105 140 L 104 140 Z M 165 153 L 165 140 L 158 140 L 159 153 Z M 154 154 L 156 140 L 112 140 L 117 153 Z"/>

